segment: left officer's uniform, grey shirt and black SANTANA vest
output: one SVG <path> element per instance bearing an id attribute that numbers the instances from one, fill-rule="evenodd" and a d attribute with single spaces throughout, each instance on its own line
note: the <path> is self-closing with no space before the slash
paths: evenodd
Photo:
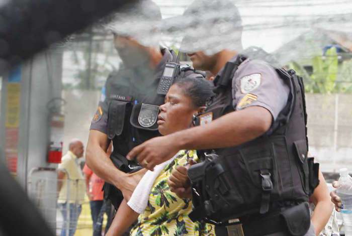
<path id="1" fill-rule="evenodd" d="M 93 117 L 91 130 L 101 131 L 113 141 L 114 150 L 110 158 L 117 168 L 126 173 L 141 169 L 136 161 L 126 159 L 128 152 L 160 135 L 156 121 L 159 105 L 164 103 L 165 95 L 159 94 L 157 89 L 164 65 L 177 58 L 168 49 L 161 49 L 161 52 L 163 57 L 154 71 L 122 67 L 111 73 Z M 186 75 L 204 78 L 203 73 L 195 73 L 189 66 L 182 68 L 178 78 Z M 163 86 L 169 88 L 169 85 Z M 115 208 L 123 199 L 121 191 L 109 183 L 104 185 L 104 196 L 112 201 Z"/>

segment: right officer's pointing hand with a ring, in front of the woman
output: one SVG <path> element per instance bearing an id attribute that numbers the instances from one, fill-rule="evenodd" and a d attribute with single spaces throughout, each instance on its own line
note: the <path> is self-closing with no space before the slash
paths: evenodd
<path id="1" fill-rule="evenodd" d="M 148 170 L 154 170 L 158 164 L 167 161 L 179 151 L 178 142 L 169 136 L 156 137 L 135 147 L 127 154 L 128 160 L 137 157 L 137 161 Z"/>

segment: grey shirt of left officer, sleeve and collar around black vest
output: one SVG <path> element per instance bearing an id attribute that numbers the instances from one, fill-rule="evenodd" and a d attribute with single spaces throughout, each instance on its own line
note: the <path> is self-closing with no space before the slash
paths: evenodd
<path id="1" fill-rule="evenodd" d="M 148 84 L 147 81 L 145 84 L 136 84 L 134 87 L 131 86 L 130 89 L 132 90 L 146 90 L 146 86 L 155 86 L 152 85 L 151 83 L 159 78 L 162 74 L 163 68 L 165 63 L 168 60 L 172 59 L 172 55 L 170 53 L 169 50 L 167 49 L 161 49 L 161 52 L 163 54 L 163 57 L 161 59 L 161 61 L 159 62 L 159 64 L 155 67 L 155 73 L 154 73 L 154 78 L 152 78 L 150 80 L 150 83 Z M 126 70 L 124 68 L 122 68 L 121 70 Z M 93 120 L 91 123 L 91 130 L 98 130 L 100 132 L 103 132 L 104 134 L 107 134 L 107 127 L 108 127 L 108 109 L 109 109 L 109 98 L 111 95 L 117 95 L 117 94 L 110 94 L 109 92 L 109 88 L 107 86 L 110 86 L 110 84 L 115 83 L 115 84 L 119 84 L 122 83 L 123 81 L 119 81 L 119 74 L 123 74 L 119 72 L 113 72 L 107 79 L 107 82 L 105 83 L 105 86 L 102 88 L 102 94 L 101 94 L 101 99 L 98 105 L 98 109 L 96 111 L 96 113 L 93 116 Z M 133 73 L 134 71 L 132 71 Z M 141 73 L 133 73 L 135 76 L 140 76 Z M 149 78 L 145 78 L 146 80 Z M 114 81 L 111 81 L 114 80 Z M 115 81 L 116 80 L 116 81 Z M 131 84 L 121 84 L 124 86 L 130 86 Z M 132 84 L 133 85 L 133 84 Z M 147 90 L 146 90 L 147 91 Z M 126 99 L 128 100 L 128 97 L 126 97 Z M 138 101 L 134 101 L 134 102 L 138 102 Z"/>

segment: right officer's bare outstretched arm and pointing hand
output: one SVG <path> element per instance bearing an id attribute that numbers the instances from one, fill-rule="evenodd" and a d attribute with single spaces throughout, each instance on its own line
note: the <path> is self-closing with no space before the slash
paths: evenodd
<path id="1" fill-rule="evenodd" d="M 226 148 L 253 140 L 270 129 L 272 120 L 269 110 L 251 106 L 223 115 L 205 126 L 148 140 L 132 149 L 127 158 L 137 158 L 141 165 L 153 170 L 179 150 Z"/>

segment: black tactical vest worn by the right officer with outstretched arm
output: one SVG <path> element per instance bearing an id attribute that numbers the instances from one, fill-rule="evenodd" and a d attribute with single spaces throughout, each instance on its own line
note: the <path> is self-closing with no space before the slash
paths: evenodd
<path id="1" fill-rule="evenodd" d="M 234 111 L 231 79 L 243 60 L 238 56 L 235 62 L 228 62 L 214 81 L 216 95 L 205 111 L 212 112 L 213 119 Z M 317 186 L 319 166 L 307 157 L 303 80 L 293 70 L 276 72 L 290 87 L 290 94 L 271 130 L 240 146 L 207 150 L 203 152 L 205 161 L 189 169 L 194 190 L 192 220 L 228 224 L 234 218 L 268 214 L 308 201 Z M 308 215 L 308 227 L 309 222 Z"/>

